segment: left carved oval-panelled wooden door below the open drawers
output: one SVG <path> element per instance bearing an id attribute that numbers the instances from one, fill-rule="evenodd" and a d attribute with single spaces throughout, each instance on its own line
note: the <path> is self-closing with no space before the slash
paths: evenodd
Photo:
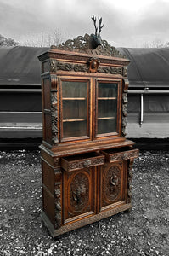
<path id="1" fill-rule="evenodd" d="M 64 224 L 87 218 L 96 212 L 96 168 L 90 167 L 74 172 L 64 172 Z"/>

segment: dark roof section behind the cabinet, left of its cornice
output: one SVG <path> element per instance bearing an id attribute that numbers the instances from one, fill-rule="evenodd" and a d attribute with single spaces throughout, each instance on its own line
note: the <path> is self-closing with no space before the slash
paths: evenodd
<path id="1" fill-rule="evenodd" d="M 41 84 L 40 47 L 0 47 L 0 84 Z"/>

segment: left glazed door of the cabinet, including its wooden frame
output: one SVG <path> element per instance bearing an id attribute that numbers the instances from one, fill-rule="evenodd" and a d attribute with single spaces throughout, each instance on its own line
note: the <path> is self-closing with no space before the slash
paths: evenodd
<path id="1" fill-rule="evenodd" d="M 61 142 L 91 138 L 91 79 L 59 79 Z"/>

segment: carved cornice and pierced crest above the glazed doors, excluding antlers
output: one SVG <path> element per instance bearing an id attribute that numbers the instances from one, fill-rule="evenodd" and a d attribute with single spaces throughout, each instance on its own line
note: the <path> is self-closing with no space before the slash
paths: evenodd
<path id="1" fill-rule="evenodd" d="M 67 40 L 65 44 L 51 46 L 38 58 L 42 61 L 42 73 L 105 73 L 122 77 L 127 77 L 130 62 L 105 40 L 96 49 L 90 49 L 90 36 L 87 34 Z"/>

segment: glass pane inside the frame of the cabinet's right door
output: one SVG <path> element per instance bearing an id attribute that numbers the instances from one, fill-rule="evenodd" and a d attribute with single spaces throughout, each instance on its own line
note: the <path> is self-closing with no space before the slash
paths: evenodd
<path id="1" fill-rule="evenodd" d="M 98 85 L 98 134 L 116 132 L 118 84 Z"/>

